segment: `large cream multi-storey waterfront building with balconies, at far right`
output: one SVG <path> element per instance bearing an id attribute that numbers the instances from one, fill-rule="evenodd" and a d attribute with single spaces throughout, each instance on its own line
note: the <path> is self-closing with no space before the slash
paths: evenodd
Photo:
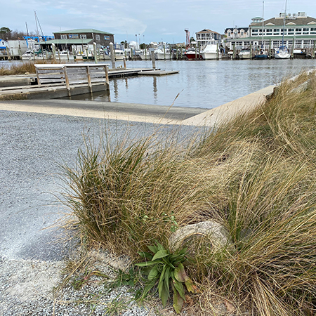
<path id="1" fill-rule="evenodd" d="M 263 18 L 253 18 L 247 36 L 227 37 L 226 45 L 230 49 L 234 46 L 236 49 L 248 48 L 250 45 L 254 49 L 261 48 L 261 46 L 271 50 L 279 48 L 282 45 L 284 18 L 284 46 L 293 51 L 315 48 L 316 18 L 309 17 L 305 12 L 279 13 L 277 17 L 264 21 Z"/>

